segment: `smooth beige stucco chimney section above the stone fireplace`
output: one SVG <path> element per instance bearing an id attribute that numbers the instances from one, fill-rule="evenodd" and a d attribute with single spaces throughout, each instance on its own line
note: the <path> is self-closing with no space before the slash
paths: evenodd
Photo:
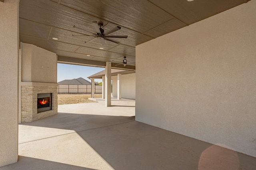
<path id="1" fill-rule="evenodd" d="M 57 56 L 32 44 L 22 43 L 22 82 L 57 83 Z"/>

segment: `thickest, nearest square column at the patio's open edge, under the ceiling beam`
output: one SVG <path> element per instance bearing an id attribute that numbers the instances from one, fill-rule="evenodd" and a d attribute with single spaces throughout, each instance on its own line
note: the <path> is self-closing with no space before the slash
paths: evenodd
<path id="1" fill-rule="evenodd" d="M 106 62 L 105 68 L 105 106 L 111 106 L 111 62 Z"/>

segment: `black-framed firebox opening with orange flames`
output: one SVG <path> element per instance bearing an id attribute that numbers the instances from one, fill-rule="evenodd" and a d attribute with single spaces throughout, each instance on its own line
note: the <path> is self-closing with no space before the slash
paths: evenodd
<path id="1" fill-rule="evenodd" d="M 37 94 L 37 113 L 52 110 L 52 93 Z"/>

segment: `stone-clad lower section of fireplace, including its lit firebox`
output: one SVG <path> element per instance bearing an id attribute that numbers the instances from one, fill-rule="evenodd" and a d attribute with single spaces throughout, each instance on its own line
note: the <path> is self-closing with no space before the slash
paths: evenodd
<path id="1" fill-rule="evenodd" d="M 22 82 L 21 123 L 56 115 L 58 113 L 57 88 L 56 83 Z"/>

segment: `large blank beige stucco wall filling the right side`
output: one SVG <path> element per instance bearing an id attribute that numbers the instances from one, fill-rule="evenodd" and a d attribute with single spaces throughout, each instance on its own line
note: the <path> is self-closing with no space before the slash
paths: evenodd
<path id="1" fill-rule="evenodd" d="M 136 46 L 136 120 L 256 157 L 255 19 L 251 0 Z"/>

